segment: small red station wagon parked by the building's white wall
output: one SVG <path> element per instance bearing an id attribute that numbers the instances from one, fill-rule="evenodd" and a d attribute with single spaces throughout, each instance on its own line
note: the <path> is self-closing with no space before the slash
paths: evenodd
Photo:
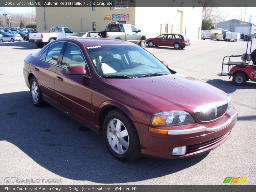
<path id="1" fill-rule="evenodd" d="M 170 46 L 174 49 L 184 49 L 185 46 L 190 45 L 190 41 L 186 35 L 181 34 L 162 34 L 156 38 L 146 40 L 149 47 L 155 46 Z"/>

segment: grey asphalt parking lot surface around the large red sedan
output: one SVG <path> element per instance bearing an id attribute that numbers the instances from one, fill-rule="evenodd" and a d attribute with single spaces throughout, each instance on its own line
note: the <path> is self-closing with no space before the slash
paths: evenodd
<path id="1" fill-rule="evenodd" d="M 172 160 L 141 157 L 122 163 L 108 152 L 102 135 L 57 108 L 32 104 L 22 67 L 28 54 L 39 51 L 35 44 L 1 43 L 0 185 L 221 185 L 226 177 L 248 177 L 245 184 L 255 185 L 256 83 L 237 87 L 228 77 L 217 76 L 223 57 L 245 53 L 246 44 L 192 40 L 184 50 L 146 47 L 169 68 L 230 94 L 238 121 L 228 140 L 204 155 Z"/>

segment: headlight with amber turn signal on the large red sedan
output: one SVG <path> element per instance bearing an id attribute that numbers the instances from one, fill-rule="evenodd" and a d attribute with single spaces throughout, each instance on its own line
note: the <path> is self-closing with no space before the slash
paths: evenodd
<path id="1" fill-rule="evenodd" d="M 150 125 L 176 126 L 196 123 L 187 111 L 166 111 L 152 116 Z"/>

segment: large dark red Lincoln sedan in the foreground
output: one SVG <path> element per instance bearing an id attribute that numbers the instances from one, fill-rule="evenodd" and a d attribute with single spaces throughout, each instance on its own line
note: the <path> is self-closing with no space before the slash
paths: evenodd
<path id="1" fill-rule="evenodd" d="M 47 101 L 102 132 L 121 161 L 218 147 L 236 124 L 231 97 L 163 63 L 122 40 L 59 39 L 28 55 L 23 73 L 35 106 Z"/>

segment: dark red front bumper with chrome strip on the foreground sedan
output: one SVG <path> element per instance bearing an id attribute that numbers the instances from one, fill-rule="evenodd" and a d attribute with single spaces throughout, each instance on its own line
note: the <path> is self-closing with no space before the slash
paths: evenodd
<path id="1" fill-rule="evenodd" d="M 221 119 L 210 124 L 161 127 L 161 129 L 168 129 L 168 135 L 149 132 L 149 126 L 145 124 L 135 123 L 135 126 L 140 132 L 142 154 L 163 158 L 180 158 L 199 155 L 221 145 L 228 139 L 236 120 L 237 111 L 233 108 Z M 187 147 L 185 155 L 172 156 L 173 148 L 181 146 Z"/>

